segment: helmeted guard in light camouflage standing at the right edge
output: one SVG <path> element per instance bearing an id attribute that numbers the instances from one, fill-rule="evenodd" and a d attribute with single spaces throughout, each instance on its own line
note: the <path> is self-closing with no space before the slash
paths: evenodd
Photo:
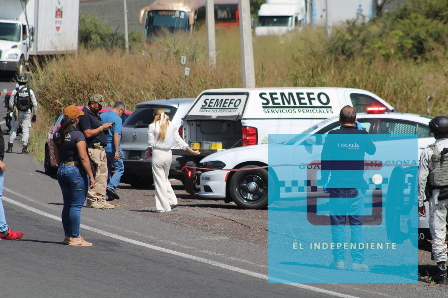
<path id="1" fill-rule="evenodd" d="M 432 236 L 432 254 L 437 263 L 437 274 L 432 277 L 436 284 L 446 285 L 447 277 L 447 209 L 448 209 L 448 117 L 436 116 L 429 122 L 435 143 L 420 155 L 418 165 L 418 214 L 426 216 L 423 202 L 429 203 L 429 229 Z M 446 152 L 445 152 L 446 149 Z M 429 184 L 429 185 L 427 185 Z M 429 195 L 426 197 L 425 189 Z"/>

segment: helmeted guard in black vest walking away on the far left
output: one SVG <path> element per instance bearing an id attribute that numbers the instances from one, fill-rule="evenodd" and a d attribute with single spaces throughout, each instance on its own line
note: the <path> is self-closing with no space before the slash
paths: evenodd
<path id="1" fill-rule="evenodd" d="M 22 124 L 22 154 L 28 154 L 27 148 L 28 139 L 30 139 L 30 127 L 31 122 L 36 122 L 37 101 L 33 90 L 26 88 L 26 82 L 28 82 L 26 76 L 19 76 L 17 78 L 19 86 L 13 90 L 11 97 L 9 97 L 9 108 L 15 112 L 11 121 L 11 131 L 9 132 L 6 153 L 13 152 L 14 139 L 16 139 L 17 130 L 20 124 Z M 31 108 L 33 108 L 33 118 L 31 118 Z"/>

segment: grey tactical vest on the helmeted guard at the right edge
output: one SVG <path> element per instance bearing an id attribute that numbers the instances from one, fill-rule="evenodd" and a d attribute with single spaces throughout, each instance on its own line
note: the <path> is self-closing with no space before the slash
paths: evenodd
<path id="1" fill-rule="evenodd" d="M 429 145 L 434 154 L 431 156 L 431 166 L 429 168 L 429 183 L 432 188 L 448 187 L 448 148 L 444 148 L 441 152 L 436 144 Z"/>

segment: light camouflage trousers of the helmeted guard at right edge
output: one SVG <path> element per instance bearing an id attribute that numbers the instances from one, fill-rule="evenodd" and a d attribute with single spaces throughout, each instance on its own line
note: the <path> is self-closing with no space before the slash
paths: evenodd
<path id="1" fill-rule="evenodd" d="M 437 193 L 438 195 L 438 193 Z M 432 254 L 436 262 L 447 260 L 447 221 L 448 221 L 448 199 L 441 200 L 435 205 L 436 196 L 434 195 L 428 200 L 429 203 L 429 230 L 432 236 Z"/>

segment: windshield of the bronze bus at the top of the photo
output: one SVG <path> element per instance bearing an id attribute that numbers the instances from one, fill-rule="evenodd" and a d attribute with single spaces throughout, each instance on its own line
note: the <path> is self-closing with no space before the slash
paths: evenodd
<path id="1" fill-rule="evenodd" d="M 167 29 L 174 32 L 188 27 L 188 12 L 179 10 L 151 10 L 146 17 L 146 36 L 157 35 L 158 31 Z"/>

